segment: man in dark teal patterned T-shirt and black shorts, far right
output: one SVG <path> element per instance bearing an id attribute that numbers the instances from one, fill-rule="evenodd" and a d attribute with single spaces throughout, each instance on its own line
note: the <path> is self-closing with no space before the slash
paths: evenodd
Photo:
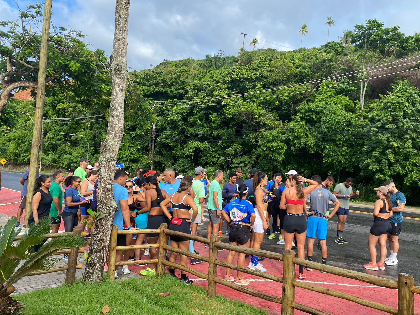
<path id="1" fill-rule="evenodd" d="M 402 230 L 402 211 L 405 207 L 405 196 L 402 192 L 396 189 L 395 183 L 391 180 L 386 181 L 383 186 L 388 187 L 388 192 L 391 193 L 392 200 L 392 217 L 389 218 L 391 222 L 391 232 L 388 234 L 389 250 L 391 255 L 385 258 L 385 264 L 393 266 L 398 264 L 396 254 L 398 253 L 399 243 L 398 236 Z"/>

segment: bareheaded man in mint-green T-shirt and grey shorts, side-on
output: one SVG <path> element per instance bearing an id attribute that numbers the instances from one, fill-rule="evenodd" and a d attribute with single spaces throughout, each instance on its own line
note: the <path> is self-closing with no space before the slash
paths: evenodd
<path id="1" fill-rule="evenodd" d="M 209 226 L 207 227 L 207 238 L 210 239 L 211 234 L 218 234 L 220 215 L 222 214 L 220 207 L 222 206 L 222 189 L 220 181 L 223 180 L 223 171 L 214 172 L 214 179 L 210 183 L 209 200 L 207 201 L 207 211 L 209 213 Z M 208 247 L 208 245 L 206 245 Z"/>

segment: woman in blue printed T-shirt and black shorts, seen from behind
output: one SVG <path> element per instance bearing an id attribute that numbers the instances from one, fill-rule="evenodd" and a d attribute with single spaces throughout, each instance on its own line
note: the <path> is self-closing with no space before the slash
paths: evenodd
<path id="1" fill-rule="evenodd" d="M 237 245 L 240 247 L 248 247 L 250 245 L 250 237 L 252 226 L 255 224 L 255 210 L 252 203 L 248 201 L 248 187 L 245 184 L 239 185 L 238 196 L 236 199 L 229 202 L 222 211 L 223 217 L 226 219 L 226 222 L 230 223 L 231 231 L 229 233 L 229 244 Z M 232 263 L 236 252 L 229 251 L 228 256 L 226 257 L 226 262 Z M 239 258 L 237 265 L 239 267 L 245 266 L 245 254 L 238 253 Z M 242 278 L 242 273 L 238 271 L 238 275 L 234 278 L 231 275 L 231 269 L 226 268 L 225 280 L 235 281 L 235 284 L 240 286 L 246 286 L 249 284 L 249 281 Z"/>

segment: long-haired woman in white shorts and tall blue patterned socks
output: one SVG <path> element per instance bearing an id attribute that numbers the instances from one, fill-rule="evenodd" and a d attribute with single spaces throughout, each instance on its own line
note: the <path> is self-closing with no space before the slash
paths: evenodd
<path id="1" fill-rule="evenodd" d="M 267 175 L 263 172 L 254 174 L 254 181 L 252 188 L 254 189 L 255 200 L 255 222 L 252 228 L 252 241 L 251 248 L 260 249 L 262 240 L 264 239 L 264 231 L 270 225 L 267 217 L 268 194 L 265 193 L 263 187 L 267 184 Z M 267 269 L 263 268 L 258 262 L 258 256 L 251 255 L 251 261 L 248 265 L 249 269 L 266 272 Z"/>

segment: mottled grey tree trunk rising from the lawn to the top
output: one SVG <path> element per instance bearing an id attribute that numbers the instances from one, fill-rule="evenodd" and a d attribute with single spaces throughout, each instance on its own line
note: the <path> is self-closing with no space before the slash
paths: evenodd
<path id="1" fill-rule="evenodd" d="M 111 227 L 117 210 L 112 183 L 118 149 L 124 133 L 124 98 L 127 85 L 127 35 L 130 0 L 116 0 L 114 47 L 110 57 L 112 94 L 108 130 L 102 142 L 99 159 L 98 211 L 105 217 L 95 223 L 89 245 L 84 281 L 102 281 L 105 257 L 108 252 Z"/>

